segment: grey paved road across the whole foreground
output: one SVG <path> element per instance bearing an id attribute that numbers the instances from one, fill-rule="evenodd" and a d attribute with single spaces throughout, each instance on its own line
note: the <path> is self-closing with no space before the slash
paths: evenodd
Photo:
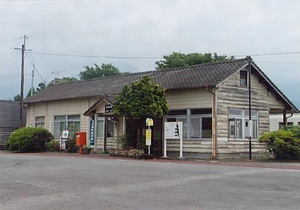
<path id="1" fill-rule="evenodd" d="M 300 207 L 299 164 L 97 157 L 0 153 L 0 209 Z"/>

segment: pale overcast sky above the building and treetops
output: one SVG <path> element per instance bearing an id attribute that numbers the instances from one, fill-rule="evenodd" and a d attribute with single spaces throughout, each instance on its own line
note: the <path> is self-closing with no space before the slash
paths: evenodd
<path id="1" fill-rule="evenodd" d="M 0 0 L 0 100 L 84 66 L 155 69 L 172 52 L 252 56 L 300 108 L 299 0 Z"/>

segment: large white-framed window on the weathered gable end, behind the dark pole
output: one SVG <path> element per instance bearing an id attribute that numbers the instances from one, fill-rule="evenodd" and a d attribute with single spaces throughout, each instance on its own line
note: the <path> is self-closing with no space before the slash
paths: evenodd
<path id="1" fill-rule="evenodd" d="M 258 137 L 258 112 L 255 110 L 251 111 L 252 120 L 252 138 L 257 139 Z M 248 138 L 249 129 L 249 111 L 241 109 L 229 109 L 229 120 L 228 120 L 228 137 L 229 139 L 243 140 Z"/>

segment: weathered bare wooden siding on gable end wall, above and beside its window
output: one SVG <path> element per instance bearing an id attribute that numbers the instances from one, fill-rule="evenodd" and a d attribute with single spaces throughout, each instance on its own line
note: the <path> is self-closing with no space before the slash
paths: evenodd
<path id="1" fill-rule="evenodd" d="M 237 72 L 217 89 L 218 139 L 228 139 L 229 108 L 249 109 L 249 88 L 239 84 L 240 73 Z M 251 75 L 251 106 L 253 110 L 258 111 L 259 135 L 269 131 L 269 110 L 284 109 L 284 104 L 267 91 L 266 85 L 260 83 L 255 74 Z"/>

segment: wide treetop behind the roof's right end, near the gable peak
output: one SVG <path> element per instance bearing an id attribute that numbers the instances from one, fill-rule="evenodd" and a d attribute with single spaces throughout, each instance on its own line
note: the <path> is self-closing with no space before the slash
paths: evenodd
<path id="1" fill-rule="evenodd" d="M 220 61 L 234 60 L 234 56 L 218 55 L 217 53 L 189 53 L 173 52 L 170 55 L 165 55 L 163 60 L 156 61 L 156 69 L 163 70 L 166 68 L 184 67 L 202 63 L 213 63 Z"/>

